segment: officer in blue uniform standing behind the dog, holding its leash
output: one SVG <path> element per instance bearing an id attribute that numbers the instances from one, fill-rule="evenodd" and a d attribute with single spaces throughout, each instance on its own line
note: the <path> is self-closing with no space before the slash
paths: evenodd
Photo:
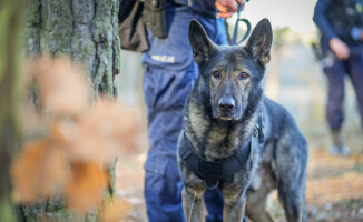
<path id="1" fill-rule="evenodd" d="M 148 154 L 145 168 L 145 200 L 150 222 L 185 221 L 176 144 L 183 125 L 183 110 L 197 79 L 188 26 L 197 19 L 217 44 L 227 44 L 224 21 L 244 0 L 167 0 L 167 38 L 148 29 L 150 48 L 143 53 L 144 93 L 148 119 Z M 222 221 L 223 200 L 217 191 L 207 192 L 207 221 Z"/>

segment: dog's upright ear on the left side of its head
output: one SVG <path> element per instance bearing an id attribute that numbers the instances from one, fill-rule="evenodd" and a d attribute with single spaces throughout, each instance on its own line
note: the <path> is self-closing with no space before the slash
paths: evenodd
<path id="1" fill-rule="evenodd" d="M 194 61 L 204 64 L 216 50 L 202 24 L 193 19 L 189 23 L 189 41 L 193 49 Z"/>

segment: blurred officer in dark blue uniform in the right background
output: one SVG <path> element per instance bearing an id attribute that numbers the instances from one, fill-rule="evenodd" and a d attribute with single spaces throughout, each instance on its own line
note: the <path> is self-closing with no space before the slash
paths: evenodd
<path id="1" fill-rule="evenodd" d="M 333 154 L 349 155 L 342 135 L 344 78 L 350 77 L 355 89 L 361 121 L 363 120 L 363 0 L 318 0 L 314 21 L 322 32 L 325 56 L 324 72 L 328 82 L 326 118 L 332 131 Z"/>

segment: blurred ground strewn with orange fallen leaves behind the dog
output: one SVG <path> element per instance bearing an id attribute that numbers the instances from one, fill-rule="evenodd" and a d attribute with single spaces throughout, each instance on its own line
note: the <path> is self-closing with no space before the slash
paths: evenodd
<path id="1" fill-rule="evenodd" d="M 326 148 L 311 148 L 306 186 L 308 220 L 314 222 L 363 221 L 363 143 L 359 147 L 357 132 L 347 137 L 350 145 L 356 144 L 349 158 L 331 155 Z M 322 137 L 321 140 L 325 138 Z M 311 144 L 320 138 L 307 137 Z M 145 222 L 144 170 L 146 152 L 129 152 L 118 160 L 117 196 L 130 203 L 125 221 Z M 272 194 L 269 208 L 277 221 L 284 221 L 276 193 Z"/>

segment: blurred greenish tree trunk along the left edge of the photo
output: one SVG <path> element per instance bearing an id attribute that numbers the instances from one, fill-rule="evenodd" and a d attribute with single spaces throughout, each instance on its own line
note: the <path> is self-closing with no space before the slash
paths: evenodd
<path id="1" fill-rule="evenodd" d="M 9 164 L 18 150 L 22 0 L 0 1 L 0 221 L 16 221 Z"/>

